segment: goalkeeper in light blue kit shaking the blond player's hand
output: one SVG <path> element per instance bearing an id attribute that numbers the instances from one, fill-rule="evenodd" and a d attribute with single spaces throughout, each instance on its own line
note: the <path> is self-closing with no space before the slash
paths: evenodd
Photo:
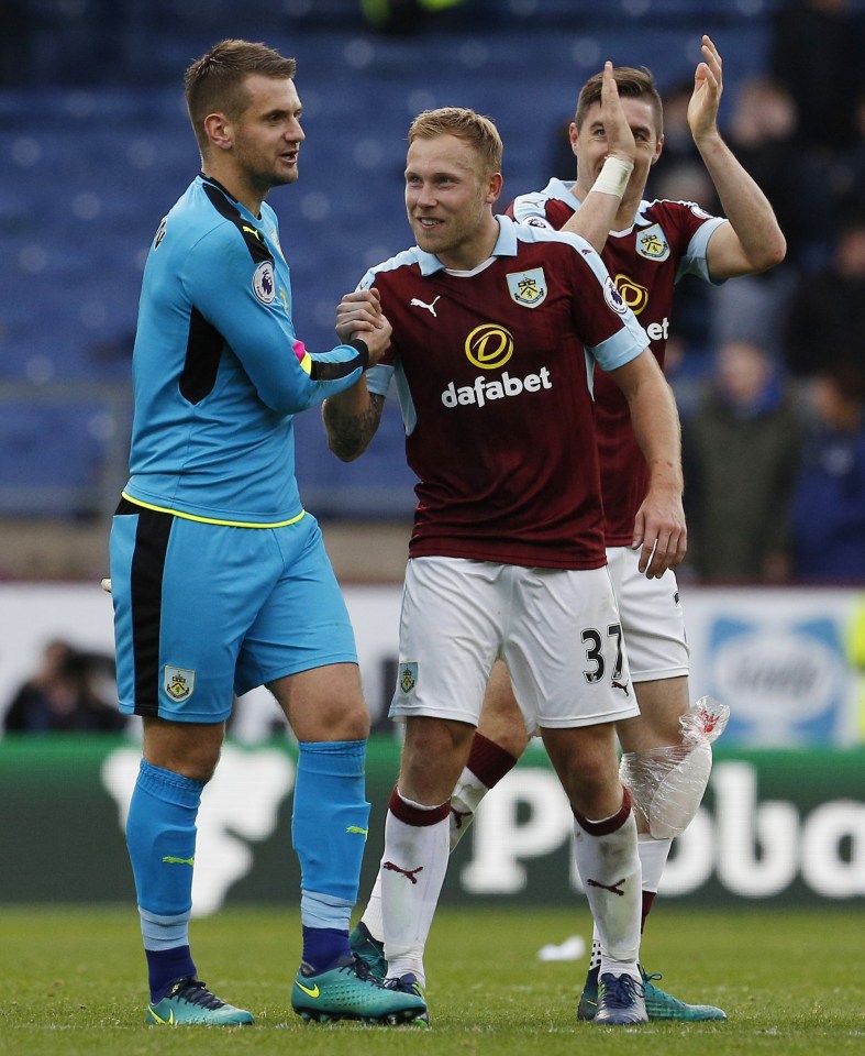
<path id="1" fill-rule="evenodd" d="M 234 1025 L 198 978 L 188 925 L 196 815 L 233 694 L 267 685 L 299 741 L 292 839 L 304 1019 L 423 1018 L 348 945 L 369 804 L 369 715 L 347 610 L 295 480 L 291 417 L 353 385 L 387 348 L 309 353 L 264 198 L 298 176 L 295 61 L 224 41 L 186 74 L 202 172 L 158 228 L 133 355 L 131 477 L 111 529 L 120 708 L 142 716 L 126 828 L 151 1024 Z M 370 295 L 373 296 L 373 295 Z"/>

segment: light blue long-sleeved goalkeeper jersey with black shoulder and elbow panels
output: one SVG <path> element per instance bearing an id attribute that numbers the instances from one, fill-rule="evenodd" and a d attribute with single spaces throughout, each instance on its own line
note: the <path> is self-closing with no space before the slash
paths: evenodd
<path id="1" fill-rule="evenodd" d="M 276 215 L 199 175 L 159 226 L 133 354 L 137 505 L 270 527 L 302 515 L 291 417 L 353 385 L 362 341 L 309 353 L 291 321 Z"/>

